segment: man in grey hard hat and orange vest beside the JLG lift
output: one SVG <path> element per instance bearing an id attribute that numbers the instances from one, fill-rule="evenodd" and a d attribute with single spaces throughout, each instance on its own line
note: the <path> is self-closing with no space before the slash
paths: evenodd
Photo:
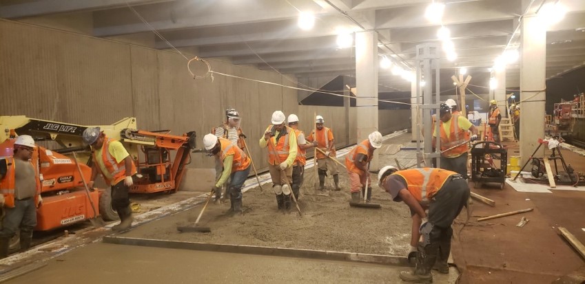
<path id="1" fill-rule="evenodd" d="M 88 187 L 93 188 L 98 173 L 112 188 L 112 208 L 118 212 L 120 223 L 112 230 L 126 230 L 132 226 L 132 208 L 128 191 L 136 175 L 134 160 L 121 142 L 107 138 L 99 127 L 88 127 L 83 131 L 83 142 L 92 147 L 92 177 Z"/>

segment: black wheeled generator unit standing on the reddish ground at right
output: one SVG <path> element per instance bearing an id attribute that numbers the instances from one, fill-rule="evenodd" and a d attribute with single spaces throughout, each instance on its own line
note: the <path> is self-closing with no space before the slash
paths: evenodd
<path id="1" fill-rule="evenodd" d="M 493 157 L 500 157 L 498 168 Z M 471 180 L 473 187 L 480 188 L 488 182 L 499 183 L 500 189 L 504 189 L 506 182 L 506 170 L 508 151 L 502 144 L 492 141 L 480 141 L 471 146 Z"/>

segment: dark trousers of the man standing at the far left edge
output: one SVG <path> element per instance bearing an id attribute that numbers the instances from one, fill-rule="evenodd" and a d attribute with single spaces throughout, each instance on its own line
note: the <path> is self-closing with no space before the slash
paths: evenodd
<path id="1" fill-rule="evenodd" d="M 32 230 L 37 226 L 37 204 L 34 204 L 34 197 L 26 200 L 14 200 L 14 207 L 7 208 L 6 216 L 2 221 L 2 230 L 0 230 L 0 238 L 10 239 L 14 237 L 17 230 L 21 230 L 21 234 L 32 234 Z"/>

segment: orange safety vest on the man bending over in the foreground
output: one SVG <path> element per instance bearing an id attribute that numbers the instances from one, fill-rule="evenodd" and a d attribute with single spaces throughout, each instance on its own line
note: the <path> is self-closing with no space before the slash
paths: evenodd
<path id="1" fill-rule="evenodd" d="M 413 197 L 424 202 L 433 198 L 442 188 L 443 184 L 451 175 L 457 173 L 442 168 L 411 168 L 409 170 L 397 171 L 392 175 L 400 175 L 407 181 L 408 190 Z"/>

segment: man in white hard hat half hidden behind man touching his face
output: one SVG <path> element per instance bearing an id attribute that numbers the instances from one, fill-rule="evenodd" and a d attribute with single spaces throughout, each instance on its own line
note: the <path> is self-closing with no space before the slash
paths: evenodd
<path id="1" fill-rule="evenodd" d="M 302 186 L 303 177 L 305 176 L 305 164 L 307 164 L 307 149 L 317 146 L 317 142 L 314 141 L 313 143 L 308 143 L 305 140 L 305 133 L 298 129 L 298 116 L 296 114 L 291 114 L 287 118 L 287 122 L 289 127 L 293 129 L 296 135 L 296 144 L 298 146 L 296 159 L 294 160 L 293 164 L 293 174 L 292 174 L 292 192 L 294 197 L 298 200 L 298 195 L 300 191 L 300 186 Z"/>

